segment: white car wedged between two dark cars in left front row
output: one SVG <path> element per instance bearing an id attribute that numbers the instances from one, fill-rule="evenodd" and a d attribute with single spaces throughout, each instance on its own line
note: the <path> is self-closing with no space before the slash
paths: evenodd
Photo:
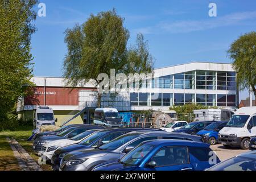
<path id="1" fill-rule="evenodd" d="M 40 151 L 41 156 L 46 156 L 46 160 L 51 160 L 53 153 L 61 147 L 69 146 L 71 144 L 79 143 L 82 140 L 84 140 L 89 135 L 93 134 L 94 132 L 98 131 L 98 129 L 95 130 L 87 130 L 84 133 L 81 133 L 79 135 L 76 135 L 73 138 L 65 138 L 65 139 L 59 139 L 59 140 L 53 140 L 50 142 L 47 142 L 43 144 L 42 150 Z"/>

